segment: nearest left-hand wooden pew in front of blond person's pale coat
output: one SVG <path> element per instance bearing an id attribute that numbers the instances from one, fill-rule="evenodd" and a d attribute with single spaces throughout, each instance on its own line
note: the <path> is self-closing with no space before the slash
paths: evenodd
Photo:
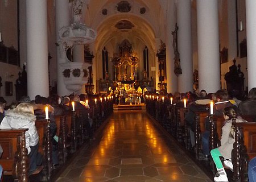
<path id="1" fill-rule="evenodd" d="M 28 155 L 25 133 L 28 129 L 0 130 L 0 143 L 3 155 L 0 164 L 4 175 L 13 175 L 18 181 L 28 181 Z"/>

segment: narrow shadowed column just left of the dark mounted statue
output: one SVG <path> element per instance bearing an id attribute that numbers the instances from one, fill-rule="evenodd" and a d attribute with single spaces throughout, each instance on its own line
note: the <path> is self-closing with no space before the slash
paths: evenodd
<path id="1" fill-rule="evenodd" d="M 166 12 L 166 78 L 167 93 L 177 91 L 177 76 L 174 73 L 174 48 L 172 47 L 172 31 L 175 30 L 174 0 L 167 1 Z"/>

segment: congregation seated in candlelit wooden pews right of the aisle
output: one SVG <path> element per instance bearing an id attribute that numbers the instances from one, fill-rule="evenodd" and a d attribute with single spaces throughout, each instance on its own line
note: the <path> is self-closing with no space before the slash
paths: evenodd
<path id="1" fill-rule="evenodd" d="M 249 161 L 256 156 L 256 145 L 253 142 L 256 139 L 256 88 L 251 89 L 243 101 L 229 98 L 226 90 L 217 90 L 210 94 L 201 90 L 196 99 L 195 97 L 192 92 L 173 95 L 148 93 L 146 109 L 208 171 L 216 173 L 217 166 L 217 176 L 224 175 L 224 179 L 213 176 L 214 181 L 247 181 L 248 176 L 252 176 L 250 172 L 254 175 L 256 173 L 255 162 L 251 162 L 254 166 L 249 166 L 250 170 L 248 169 Z M 239 122 L 240 119 L 236 119 L 237 122 L 228 122 L 230 118 L 224 118 L 225 109 L 232 109 L 237 116 L 241 116 L 242 121 L 247 122 Z M 229 124 L 225 125 L 226 123 Z M 225 127 L 228 129 L 223 130 Z M 229 155 L 221 158 L 223 154 L 217 152 L 219 156 L 210 156 L 210 151 L 214 148 L 224 148 L 222 137 L 224 133 L 226 137 L 229 136 L 231 130 L 233 139 L 228 139 Z M 220 162 L 215 165 L 213 158 L 221 161 L 221 165 Z M 225 169 L 220 167 L 222 163 Z M 226 171 L 228 176 L 225 178 Z"/>

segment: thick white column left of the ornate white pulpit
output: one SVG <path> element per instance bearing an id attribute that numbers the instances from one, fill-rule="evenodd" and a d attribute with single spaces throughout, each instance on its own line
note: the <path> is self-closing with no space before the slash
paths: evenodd
<path id="1" fill-rule="evenodd" d="M 47 1 L 26 1 L 28 96 L 49 96 Z"/>

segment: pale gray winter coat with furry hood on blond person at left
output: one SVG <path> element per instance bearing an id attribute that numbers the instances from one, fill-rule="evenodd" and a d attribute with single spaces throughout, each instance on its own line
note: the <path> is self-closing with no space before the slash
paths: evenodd
<path id="1" fill-rule="evenodd" d="M 18 113 L 14 110 L 7 110 L 0 129 L 28 129 L 26 131 L 26 148 L 30 154 L 30 146 L 38 144 L 39 136 L 35 127 L 36 117 L 34 114 Z"/>

